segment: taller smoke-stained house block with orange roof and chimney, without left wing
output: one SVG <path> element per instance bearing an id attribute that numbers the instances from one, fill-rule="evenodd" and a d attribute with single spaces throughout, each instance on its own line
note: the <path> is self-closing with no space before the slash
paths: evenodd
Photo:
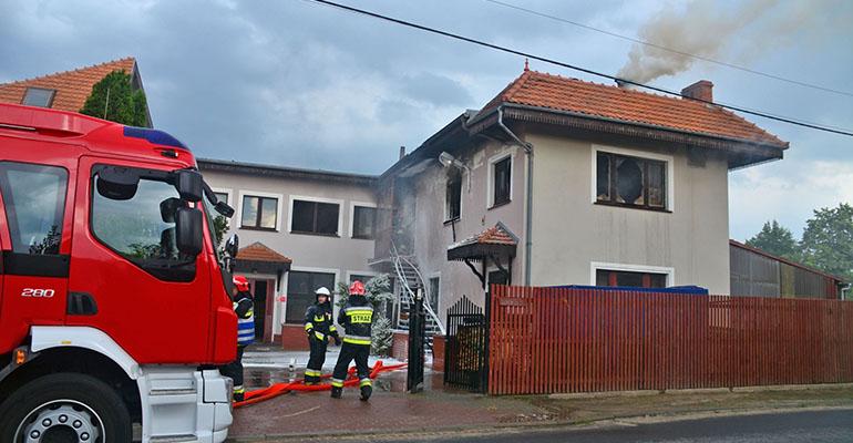
<path id="1" fill-rule="evenodd" d="M 666 96 L 525 68 L 382 174 L 377 202 L 392 210 L 371 262 L 407 257 L 439 319 L 463 296 L 482 305 L 491 282 L 730 293 L 729 171 L 789 144 L 712 91 L 699 81 Z"/>

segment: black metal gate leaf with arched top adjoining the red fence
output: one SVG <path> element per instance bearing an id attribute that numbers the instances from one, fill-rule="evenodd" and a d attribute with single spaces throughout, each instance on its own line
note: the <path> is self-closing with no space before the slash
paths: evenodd
<path id="1" fill-rule="evenodd" d="M 485 392 L 489 322 L 483 308 L 463 296 L 448 310 L 444 383 Z"/>

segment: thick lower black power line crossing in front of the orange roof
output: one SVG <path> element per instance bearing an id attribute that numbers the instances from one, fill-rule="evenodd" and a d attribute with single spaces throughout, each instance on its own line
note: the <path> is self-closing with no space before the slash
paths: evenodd
<path id="1" fill-rule="evenodd" d="M 408 27 L 408 28 L 414 28 L 414 29 L 418 29 L 418 30 L 421 30 L 421 31 L 425 31 L 425 32 L 430 32 L 430 33 L 433 33 L 433 34 L 443 35 L 443 37 L 446 37 L 446 38 L 450 38 L 450 39 L 464 41 L 464 42 L 476 44 L 476 45 L 484 47 L 484 48 L 490 48 L 490 49 L 493 49 L 493 50 L 496 50 L 496 51 L 506 52 L 506 53 L 515 54 L 515 55 L 521 55 L 521 56 L 525 56 L 525 58 L 532 59 L 532 60 L 538 60 L 538 61 L 544 62 L 544 63 L 549 63 L 549 64 L 554 64 L 554 65 L 557 65 L 557 66 L 571 69 L 571 70 L 574 70 L 574 71 L 584 72 L 584 73 L 587 73 L 587 74 L 590 74 L 590 75 L 596 75 L 596 76 L 600 76 L 600 78 L 604 78 L 604 79 L 609 79 L 609 80 L 613 80 L 613 81 L 617 81 L 619 83 L 630 84 L 630 85 L 634 85 L 634 86 L 637 86 L 637 87 L 644 87 L 644 89 L 647 89 L 647 90 L 650 90 L 650 91 L 655 91 L 655 92 L 660 92 L 660 93 L 664 93 L 664 94 L 676 95 L 676 96 L 679 96 L 679 97 L 682 97 L 682 99 L 692 100 L 692 101 L 697 101 L 697 102 L 701 102 L 701 103 L 707 103 L 707 104 L 712 104 L 712 105 L 724 107 L 724 109 L 728 109 L 728 110 L 731 110 L 731 111 L 742 112 L 744 114 L 756 115 L 756 116 L 759 116 L 759 117 L 774 120 L 774 121 L 778 121 L 778 122 L 789 123 L 789 124 L 793 124 L 793 125 L 798 125 L 798 126 L 809 127 L 809 128 L 812 128 L 812 130 L 825 131 L 825 132 L 830 132 L 830 133 L 834 133 L 834 134 L 841 134 L 841 135 L 846 135 L 846 136 L 852 136 L 853 137 L 853 131 L 850 131 L 850 130 L 836 130 L 836 128 L 828 127 L 825 125 L 808 123 L 808 122 L 803 122 L 801 120 L 795 120 L 795 119 L 792 119 L 792 117 L 783 117 L 783 116 L 768 114 L 768 113 L 764 113 L 764 112 L 751 111 L 749 109 L 741 107 L 741 106 L 736 106 L 736 105 L 730 105 L 730 104 L 724 104 L 724 103 L 716 103 L 716 102 L 711 102 L 711 101 L 707 101 L 707 100 L 701 100 L 701 99 L 696 99 L 696 97 L 691 97 L 691 96 L 686 96 L 686 95 L 681 95 L 678 92 L 669 91 L 669 90 L 664 89 L 664 87 L 652 86 L 652 85 L 635 82 L 635 81 L 628 80 L 628 79 L 621 79 L 621 78 L 618 78 L 616 75 L 605 74 L 603 72 L 593 71 L 590 69 L 577 66 L 577 65 L 574 65 L 574 64 L 564 63 L 564 62 L 561 62 L 561 61 L 557 61 L 557 60 L 554 60 L 554 59 L 548 59 L 548 58 L 545 58 L 545 56 L 535 55 L 535 54 L 527 53 L 527 52 L 524 52 L 524 51 L 518 51 L 518 50 L 514 50 L 514 49 L 511 49 L 511 48 L 501 47 L 501 45 L 497 45 L 497 44 L 494 44 L 494 43 L 484 42 L 482 40 L 476 40 L 476 39 L 472 39 L 472 38 L 469 38 L 469 37 L 455 34 L 455 33 L 452 33 L 452 32 L 442 31 L 440 29 L 425 27 L 423 24 L 418 24 L 418 23 L 405 21 L 405 20 L 395 19 L 393 17 L 382 16 L 382 14 L 379 14 L 379 13 L 376 13 L 376 12 L 367 11 L 367 10 L 363 10 L 363 9 L 358 9 L 358 8 L 353 8 L 353 7 L 350 7 L 350 6 L 336 3 L 333 1 L 328 1 L 328 0 L 306 0 L 306 1 L 312 1 L 315 3 L 325 4 L 325 6 L 337 8 L 337 9 L 343 10 L 343 11 L 349 11 L 349 12 L 353 12 L 353 13 L 357 13 L 357 14 L 372 17 L 374 19 L 380 19 L 380 20 L 389 21 L 389 22 L 392 22 L 392 23 L 401 24 L 403 27 Z"/>

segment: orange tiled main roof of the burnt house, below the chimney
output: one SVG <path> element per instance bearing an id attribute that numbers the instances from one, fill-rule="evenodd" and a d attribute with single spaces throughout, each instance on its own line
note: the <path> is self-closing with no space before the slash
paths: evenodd
<path id="1" fill-rule="evenodd" d="M 525 71 L 492 99 L 483 111 L 502 103 L 788 147 L 788 143 L 775 135 L 719 106 L 536 71 Z"/>

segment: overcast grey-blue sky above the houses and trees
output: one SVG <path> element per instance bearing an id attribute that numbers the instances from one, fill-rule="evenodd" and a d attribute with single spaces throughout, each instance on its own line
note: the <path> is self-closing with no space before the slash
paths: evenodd
<path id="1" fill-rule="evenodd" d="M 707 79 L 720 103 L 853 128 L 853 96 L 701 61 L 658 63 L 636 50 L 647 65 L 626 68 L 629 41 L 485 0 L 340 1 L 612 74 L 675 62 L 649 82 L 680 90 Z M 853 2 L 502 1 L 853 92 Z M 481 107 L 524 65 L 305 0 L 0 0 L 0 82 L 129 55 L 138 61 L 155 126 L 198 156 L 371 174 L 390 166 L 400 145 L 411 151 Z M 815 207 L 853 202 L 853 137 L 749 119 L 791 148 L 781 162 L 730 174 L 733 238 L 771 218 L 799 237 Z"/>

